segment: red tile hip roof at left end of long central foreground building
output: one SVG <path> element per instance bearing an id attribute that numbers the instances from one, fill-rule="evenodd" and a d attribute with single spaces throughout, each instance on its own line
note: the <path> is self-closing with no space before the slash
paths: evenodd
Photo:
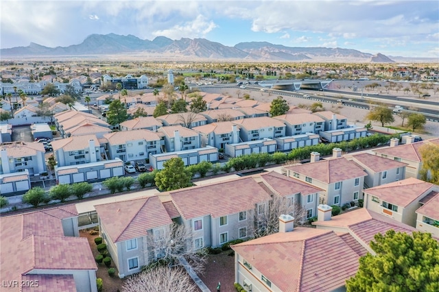
<path id="1" fill-rule="evenodd" d="M 95 206 L 112 242 L 144 236 L 147 230 L 172 223 L 157 196 Z"/>

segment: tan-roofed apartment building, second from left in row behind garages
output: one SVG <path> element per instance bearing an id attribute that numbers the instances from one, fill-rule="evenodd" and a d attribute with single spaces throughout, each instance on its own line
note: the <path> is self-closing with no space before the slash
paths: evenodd
<path id="1" fill-rule="evenodd" d="M 101 149 L 94 134 L 54 140 L 51 145 L 54 148 L 54 156 L 58 167 L 97 162 L 104 155 L 103 148 Z"/>

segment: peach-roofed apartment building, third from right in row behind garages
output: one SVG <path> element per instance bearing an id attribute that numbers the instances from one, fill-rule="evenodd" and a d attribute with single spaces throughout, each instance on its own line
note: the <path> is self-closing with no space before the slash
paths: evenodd
<path id="1" fill-rule="evenodd" d="M 270 117 L 240 119 L 232 121 L 239 127 L 239 136 L 244 142 L 285 136 L 285 124 Z"/>

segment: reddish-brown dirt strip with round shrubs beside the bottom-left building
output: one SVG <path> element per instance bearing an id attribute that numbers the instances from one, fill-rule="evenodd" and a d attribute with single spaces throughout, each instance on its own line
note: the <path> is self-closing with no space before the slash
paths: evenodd
<path id="1" fill-rule="evenodd" d="M 97 235 L 90 235 L 89 231 L 81 230 L 80 237 L 86 237 L 88 239 L 88 243 L 90 244 L 93 256 L 97 256 L 99 254 L 95 245 L 95 238 L 97 237 Z M 117 271 L 114 263 L 111 263 L 111 267 L 114 267 L 116 269 L 114 277 L 108 276 L 108 268 L 104 265 L 104 263 L 100 263 L 97 265 L 96 278 L 102 278 L 102 281 L 104 282 L 103 291 L 105 292 L 117 292 L 119 291 L 119 289 L 121 289 L 123 284 L 123 280 L 117 276 L 117 273 L 119 273 L 119 271 Z"/>

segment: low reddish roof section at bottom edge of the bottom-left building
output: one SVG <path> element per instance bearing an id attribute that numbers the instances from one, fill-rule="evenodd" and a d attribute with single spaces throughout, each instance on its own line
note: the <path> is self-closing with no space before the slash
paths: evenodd
<path id="1" fill-rule="evenodd" d="M 38 287 L 22 287 L 21 292 L 76 292 L 73 275 L 38 275 L 27 274 L 21 276 L 22 281 L 37 283 Z"/>

